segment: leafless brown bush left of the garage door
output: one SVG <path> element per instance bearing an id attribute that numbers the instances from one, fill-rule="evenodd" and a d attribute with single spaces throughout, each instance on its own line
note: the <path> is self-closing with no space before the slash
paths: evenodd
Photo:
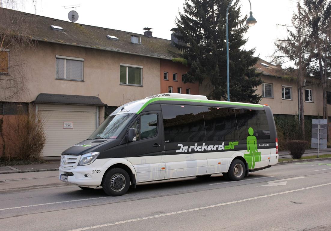
<path id="1" fill-rule="evenodd" d="M 39 115 L 16 115 L 9 117 L 6 125 L 3 129 L 7 147 L 4 159 L 39 159 L 46 142 L 42 118 Z"/>

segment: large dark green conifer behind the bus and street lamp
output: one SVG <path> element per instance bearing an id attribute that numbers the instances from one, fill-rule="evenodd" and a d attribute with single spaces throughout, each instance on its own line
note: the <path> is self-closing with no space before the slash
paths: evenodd
<path id="1" fill-rule="evenodd" d="M 183 51 L 190 70 L 185 82 L 210 83 L 209 97 L 227 99 L 226 78 L 226 8 L 230 0 L 186 0 L 183 13 L 176 18 L 178 32 L 175 37 L 184 43 L 175 44 Z M 240 18 L 239 0 L 230 7 L 229 22 L 229 76 L 231 101 L 258 103 L 261 96 L 255 94 L 262 84 L 253 57 L 255 49 L 244 50 L 243 38 L 248 26 L 247 16 Z"/>

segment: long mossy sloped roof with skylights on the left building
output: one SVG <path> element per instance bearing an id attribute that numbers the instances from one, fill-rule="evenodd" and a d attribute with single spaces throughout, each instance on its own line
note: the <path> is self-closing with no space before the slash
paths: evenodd
<path id="1" fill-rule="evenodd" d="M 12 27 L 13 24 L 19 31 L 20 29 L 24 30 L 26 35 L 38 41 L 83 46 L 164 59 L 171 59 L 179 52 L 178 49 L 170 44 L 170 40 L 167 39 L 72 23 L 0 8 L 0 27 L 8 28 Z M 63 31 L 53 30 L 51 25 L 60 26 L 63 28 Z M 131 34 L 141 36 L 141 44 L 131 43 Z M 116 36 L 118 40 L 109 39 L 107 35 Z"/>

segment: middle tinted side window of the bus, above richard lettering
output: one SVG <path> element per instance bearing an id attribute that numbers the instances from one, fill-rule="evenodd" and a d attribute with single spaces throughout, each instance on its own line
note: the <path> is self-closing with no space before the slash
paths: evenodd
<path id="1" fill-rule="evenodd" d="M 234 109 L 210 107 L 204 112 L 207 141 L 238 140 Z"/>

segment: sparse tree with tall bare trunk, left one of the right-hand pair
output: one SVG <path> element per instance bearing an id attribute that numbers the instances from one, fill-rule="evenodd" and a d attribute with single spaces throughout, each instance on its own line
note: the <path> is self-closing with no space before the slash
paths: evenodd
<path id="1" fill-rule="evenodd" d="M 282 25 L 287 28 L 288 36 L 275 41 L 276 51 L 273 54 L 273 61 L 281 64 L 287 59 L 292 61 L 296 70 L 296 80 L 300 93 L 300 127 L 302 137 L 305 137 L 304 119 L 304 82 L 307 76 L 307 65 L 309 63 L 310 48 L 307 46 L 307 31 L 304 27 L 305 9 L 302 8 L 300 0 L 297 2 L 297 12 L 293 13 L 292 25 Z"/>

